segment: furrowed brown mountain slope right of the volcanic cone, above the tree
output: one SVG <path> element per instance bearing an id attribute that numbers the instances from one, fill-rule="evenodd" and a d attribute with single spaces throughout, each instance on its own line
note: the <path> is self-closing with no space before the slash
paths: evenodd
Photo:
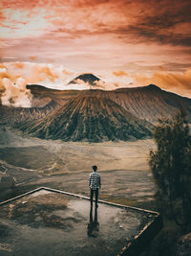
<path id="1" fill-rule="evenodd" d="M 161 117 L 171 117 L 184 108 L 191 122 L 191 99 L 160 89 L 154 84 L 108 92 L 107 96 L 138 118 L 155 124 Z"/>

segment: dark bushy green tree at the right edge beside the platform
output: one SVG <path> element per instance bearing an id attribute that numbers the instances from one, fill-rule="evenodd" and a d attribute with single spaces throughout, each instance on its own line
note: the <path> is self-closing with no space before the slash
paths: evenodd
<path id="1" fill-rule="evenodd" d="M 160 207 L 167 217 L 191 229 L 191 135 L 182 110 L 171 120 L 159 120 L 154 130 L 157 151 L 149 164 Z"/>

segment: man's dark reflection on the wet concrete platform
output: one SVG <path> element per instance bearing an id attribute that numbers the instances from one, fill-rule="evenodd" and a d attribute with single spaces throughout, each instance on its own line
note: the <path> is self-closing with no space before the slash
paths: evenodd
<path id="1" fill-rule="evenodd" d="M 95 220 L 93 221 L 93 206 L 90 208 L 90 222 L 87 227 L 89 237 L 97 237 L 99 232 L 99 222 L 97 221 L 97 208 L 95 207 Z"/>

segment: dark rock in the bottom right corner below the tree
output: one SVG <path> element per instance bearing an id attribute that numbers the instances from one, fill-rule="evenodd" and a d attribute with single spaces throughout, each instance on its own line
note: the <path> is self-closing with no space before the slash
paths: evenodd
<path id="1" fill-rule="evenodd" d="M 182 237 L 177 245 L 177 256 L 190 256 L 191 255 L 191 233 L 188 233 Z"/>

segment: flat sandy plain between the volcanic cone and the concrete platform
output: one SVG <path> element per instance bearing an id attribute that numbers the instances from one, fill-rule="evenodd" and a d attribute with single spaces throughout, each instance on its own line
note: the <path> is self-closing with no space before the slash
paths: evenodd
<path id="1" fill-rule="evenodd" d="M 52 188 L 89 196 L 88 176 L 98 166 L 102 179 L 99 198 L 152 208 L 155 185 L 149 171 L 153 140 L 80 143 L 23 137 L 0 128 L 0 172 L 14 176 L 16 187 L 1 192 L 0 200 L 33 188 Z"/>

